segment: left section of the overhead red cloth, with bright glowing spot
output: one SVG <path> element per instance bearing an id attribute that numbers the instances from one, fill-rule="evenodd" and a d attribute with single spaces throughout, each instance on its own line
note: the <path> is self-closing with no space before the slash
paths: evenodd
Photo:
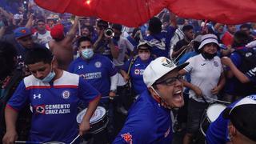
<path id="1" fill-rule="evenodd" d="M 141 26 L 158 14 L 164 0 L 35 0 L 38 6 L 58 13 L 97 16 L 125 26 Z"/>

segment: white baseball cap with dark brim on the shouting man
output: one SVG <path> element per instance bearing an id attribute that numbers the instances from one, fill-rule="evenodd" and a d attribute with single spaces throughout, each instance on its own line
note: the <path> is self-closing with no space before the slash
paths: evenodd
<path id="1" fill-rule="evenodd" d="M 180 66 L 176 66 L 173 61 L 166 57 L 156 58 L 146 66 L 143 73 L 143 81 L 147 87 L 150 87 L 165 74 L 168 74 L 172 70 L 182 70 L 188 64 L 189 63 L 186 62 Z"/>

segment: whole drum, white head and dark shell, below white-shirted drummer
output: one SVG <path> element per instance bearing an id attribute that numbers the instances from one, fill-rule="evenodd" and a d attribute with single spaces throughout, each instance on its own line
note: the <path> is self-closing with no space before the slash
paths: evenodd
<path id="1" fill-rule="evenodd" d="M 214 103 L 206 109 L 202 121 L 200 122 L 200 130 L 204 136 L 206 136 L 206 130 L 210 126 L 211 122 L 214 122 L 219 114 L 226 109 L 225 105 Z"/>

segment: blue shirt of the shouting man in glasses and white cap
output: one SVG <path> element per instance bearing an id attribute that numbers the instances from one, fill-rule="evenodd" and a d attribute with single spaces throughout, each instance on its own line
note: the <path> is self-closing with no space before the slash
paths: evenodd
<path id="1" fill-rule="evenodd" d="M 115 143 L 168 143 L 172 141 L 170 110 L 162 107 L 145 90 L 129 110 Z"/>

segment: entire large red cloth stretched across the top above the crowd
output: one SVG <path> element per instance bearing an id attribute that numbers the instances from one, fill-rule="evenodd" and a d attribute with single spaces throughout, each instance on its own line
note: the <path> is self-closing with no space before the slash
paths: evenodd
<path id="1" fill-rule="evenodd" d="M 226 24 L 256 22 L 256 0 L 34 0 L 58 13 L 96 16 L 125 26 L 141 26 L 168 8 L 182 18 Z"/>

